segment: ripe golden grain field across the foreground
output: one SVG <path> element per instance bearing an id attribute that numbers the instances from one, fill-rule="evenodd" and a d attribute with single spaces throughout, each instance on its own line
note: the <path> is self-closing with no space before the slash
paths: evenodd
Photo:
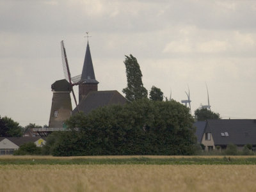
<path id="1" fill-rule="evenodd" d="M 100 164 L 58 164 L 57 161 L 72 158 L 136 158 L 134 156 L 44 157 L 54 159 L 57 163 L 35 163 L 42 158 L 0 157 L 0 191 L 256 191 L 255 164 L 154 164 L 155 161 L 152 164 L 118 164 L 108 161 Z M 154 158 L 168 159 L 170 156 L 145 158 L 148 161 Z M 207 160 L 207 157 L 203 158 Z M 231 161 L 243 158 L 231 157 Z M 25 161 L 1 164 L 1 161 L 10 159 L 25 159 L 35 164 Z"/>

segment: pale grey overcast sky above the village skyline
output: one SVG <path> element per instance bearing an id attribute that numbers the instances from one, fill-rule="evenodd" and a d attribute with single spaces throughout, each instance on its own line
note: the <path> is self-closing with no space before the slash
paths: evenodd
<path id="1" fill-rule="evenodd" d="M 195 111 L 207 83 L 212 111 L 256 118 L 254 0 L 0 0 L 0 115 L 48 125 L 51 84 L 64 78 L 60 42 L 79 75 L 86 31 L 99 90 L 122 93 L 132 54 L 148 91 L 172 89 L 180 102 L 189 86 Z"/>

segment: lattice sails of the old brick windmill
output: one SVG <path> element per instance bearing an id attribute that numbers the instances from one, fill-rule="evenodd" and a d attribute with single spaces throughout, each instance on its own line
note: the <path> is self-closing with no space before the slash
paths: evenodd
<path id="1" fill-rule="evenodd" d="M 62 65 L 63 65 L 63 71 L 64 71 L 65 79 L 68 81 L 68 83 L 70 83 L 71 92 L 72 92 L 72 95 L 73 95 L 75 103 L 76 103 L 77 111 L 79 111 L 78 106 L 77 106 L 77 101 L 76 101 L 76 95 L 75 95 L 74 90 L 73 90 L 73 86 L 75 86 L 79 83 L 79 81 L 81 79 L 81 75 L 80 76 L 75 76 L 73 78 L 71 77 L 70 70 L 69 70 L 69 67 L 68 67 L 67 53 L 66 53 L 66 49 L 65 49 L 65 45 L 64 45 L 63 40 L 61 41 L 61 58 L 62 58 Z M 72 81 L 74 83 L 72 83 Z"/>

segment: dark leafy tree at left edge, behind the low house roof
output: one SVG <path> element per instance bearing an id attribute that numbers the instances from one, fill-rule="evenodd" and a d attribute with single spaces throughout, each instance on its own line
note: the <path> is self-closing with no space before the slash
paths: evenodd
<path id="1" fill-rule="evenodd" d="M 12 118 L 0 116 L 0 136 L 1 137 L 20 137 L 22 136 L 22 127 L 14 122 Z"/>

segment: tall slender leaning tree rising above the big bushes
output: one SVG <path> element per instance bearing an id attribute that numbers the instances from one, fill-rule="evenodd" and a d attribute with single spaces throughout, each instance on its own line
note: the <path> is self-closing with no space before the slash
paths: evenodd
<path id="1" fill-rule="evenodd" d="M 123 89 L 125 93 L 125 98 L 132 102 L 133 100 L 142 99 L 147 97 L 148 91 L 143 86 L 141 77 L 140 65 L 136 58 L 130 54 L 130 56 L 125 55 L 125 68 L 127 77 L 127 87 Z"/>

